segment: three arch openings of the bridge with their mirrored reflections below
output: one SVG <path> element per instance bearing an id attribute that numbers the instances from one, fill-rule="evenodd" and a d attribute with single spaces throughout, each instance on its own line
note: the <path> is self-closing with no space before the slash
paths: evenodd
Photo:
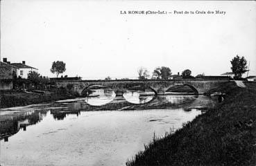
<path id="1" fill-rule="evenodd" d="M 121 98 L 123 98 L 124 100 L 132 104 L 146 104 L 148 102 L 153 102 L 153 100 L 157 98 L 157 102 L 180 104 L 188 98 L 191 99 L 191 96 L 186 97 L 186 95 L 184 95 L 194 95 L 194 93 L 191 92 L 191 89 L 187 89 L 183 86 L 178 86 L 177 89 L 171 89 L 171 91 L 167 93 L 169 95 L 157 96 L 155 92 L 148 87 L 135 86 L 126 90 L 122 95 L 116 95 L 112 89 L 106 88 L 104 86 L 93 86 L 93 89 L 87 89 L 86 93 L 88 95 L 85 98 L 85 102 L 92 106 L 101 106 L 113 102 L 115 98 L 117 98 L 116 100 L 120 100 Z M 194 95 L 194 98 L 196 98 L 196 96 L 197 95 Z"/>

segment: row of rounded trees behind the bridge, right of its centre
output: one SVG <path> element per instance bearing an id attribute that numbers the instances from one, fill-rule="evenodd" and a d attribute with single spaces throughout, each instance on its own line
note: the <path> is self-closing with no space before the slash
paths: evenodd
<path id="1" fill-rule="evenodd" d="M 150 78 L 148 70 L 144 67 L 139 68 L 138 74 L 139 80 L 145 80 Z M 182 71 L 181 76 L 182 78 L 193 78 L 193 76 L 191 76 L 191 71 L 189 69 Z M 151 79 L 169 79 L 169 77 L 171 77 L 171 68 L 162 66 L 155 68 L 155 70 L 152 73 Z"/>

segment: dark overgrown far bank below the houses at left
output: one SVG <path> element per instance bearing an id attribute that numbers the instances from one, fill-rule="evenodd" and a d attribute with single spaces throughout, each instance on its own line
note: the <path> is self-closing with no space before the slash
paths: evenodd
<path id="1" fill-rule="evenodd" d="M 40 104 L 44 102 L 53 102 L 56 100 L 65 100 L 70 98 L 76 98 L 76 94 L 69 93 L 66 89 L 56 89 L 56 91 L 45 94 L 30 94 L 10 91 L 0 94 L 0 109 L 25 106 L 29 104 Z"/>

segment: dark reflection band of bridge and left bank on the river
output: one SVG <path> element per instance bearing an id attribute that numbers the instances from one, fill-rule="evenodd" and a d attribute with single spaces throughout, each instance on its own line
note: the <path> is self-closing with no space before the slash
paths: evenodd
<path id="1" fill-rule="evenodd" d="M 143 92 L 142 92 L 143 93 Z M 138 92 L 129 92 L 123 94 L 125 98 L 119 98 L 114 100 L 108 107 L 99 106 L 113 100 L 114 93 L 111 95 L 111 99 L 103 97 L 91 97 L 91 98 L 78 98 L 76 100 L 63 100 L 54 104 L 48 105 L 31 105 L 28 107 L 21 107 L 19 109 L 10 111 L 1 111 L 0 113 L 0 139 L 8 141 L 8 137 L 17 133 L 20 129 L 26 131 L 26 127 L 32 124 L 37 124 L 49 112 L 54 120 L 65 120 L 68 115 L 80 116 L 81 111 L 99 111 L 99 110 L 147 110 L 150 109 L 170 109 L 176 105 L 180 105 L 183 111 L 191 111 L 191 108 L 200 108 L 203 106 L 209 106 L 216 103 L 207 96 L 194 96 L 194 95 L 163 95 L 155 96 L 142 95 Z M 102 96 L 102 95 L 101 95 Z M 99 107 L 90 107 L 87 103 L 97 105 Z M 106 100 L 106 101 L 104 101 Z M 135 103 L 135 104 L 129 104 Z M 186 107 L 185 103 L 187 104 Z M 140 105 L 141 104 L 141 105 Z M 26 109 L 28 111 L 26 111 Z M 19 111 L 20 110 L 20 111 Z M 7 113 L 4 113 L 7 112 Z"/>

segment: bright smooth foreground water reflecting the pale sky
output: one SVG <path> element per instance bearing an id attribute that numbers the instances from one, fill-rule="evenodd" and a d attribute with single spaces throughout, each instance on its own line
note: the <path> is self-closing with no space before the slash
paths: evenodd
<path id="1" fill-rule="evenodd" d="M 163 136 L 170 127 L 178 129 L 200 113 L 182 109 L 83 111 L 78 118 L 70 115 L 56 121 L 49 112 L 40 124 L 1 142 L 1 164 L 125 165 L 152 140 L 154 132 Z"/>

